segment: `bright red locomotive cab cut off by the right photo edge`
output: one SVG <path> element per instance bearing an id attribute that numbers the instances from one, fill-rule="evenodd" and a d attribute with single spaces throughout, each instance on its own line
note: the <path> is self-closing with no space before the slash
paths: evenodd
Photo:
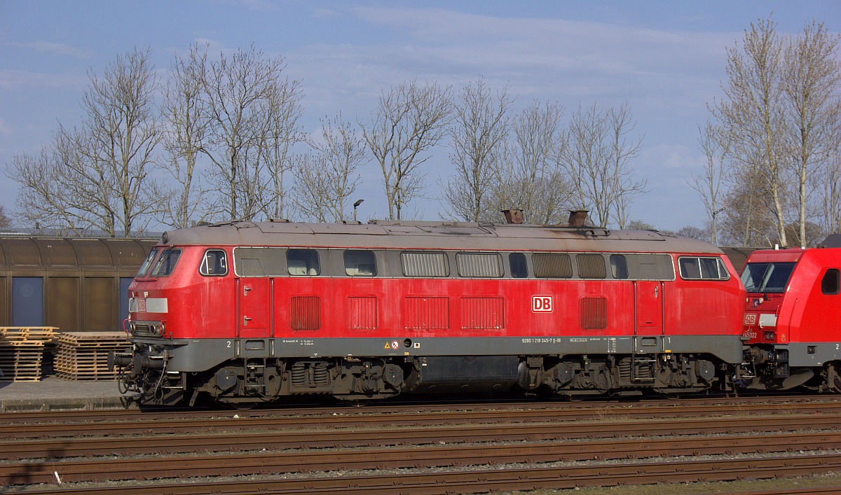
<path id="1" fill-rule="evenodd" d="M 841 249 L 756 250 L 742 282 L 748 388 L 841 392 Z"/>

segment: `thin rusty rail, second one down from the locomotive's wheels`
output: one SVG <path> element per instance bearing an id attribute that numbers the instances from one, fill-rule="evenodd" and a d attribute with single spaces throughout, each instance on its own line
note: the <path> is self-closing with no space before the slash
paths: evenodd
<path id="1" fill-rule="evenodd" d="M 2 424 L 0 439 L 39 439 L 71 437 L 80 435 L 114 436 L 136 434 L 186 434 L 207 431 L 243 431 L 304 428 L 395 428 L 402 426 L 424 426 L 437 424 L 516 424 L 558 421 L 586 421 L 604 419 L 643 418 L 691 418 L 708 415 L 758 416 L 782 413 L 836 413 L 841 414 L 841 403 L 786 403 L 786 404 L 739 404 L 733 406 L 687 406 L 669 407 L 611 407 L 611 408 L 537 408 L 503 410 L 475 410 L 457 412 L 421 412 L 361 414 L 336 412 L 307 414 L 305 416 L 240 416 L 230 413 L 225 418 L 168 419 L 144 416 L 134 421 L 98 423 L 46 423 L 46 424 Z M 2 416 L 0 416 L 2 418 Z M 154 419 L 154 421 L 150 421 Z"/>

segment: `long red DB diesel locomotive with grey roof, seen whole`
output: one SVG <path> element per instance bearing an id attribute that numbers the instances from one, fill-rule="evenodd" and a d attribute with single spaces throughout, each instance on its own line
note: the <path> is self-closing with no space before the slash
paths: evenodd
<path id="1" fill-rule="evenodd" d="M 727 256 L 653 231 L 235 221 L 163 235 L 132 282 L 145 403 L 730 387 L 746 293 Z"/>

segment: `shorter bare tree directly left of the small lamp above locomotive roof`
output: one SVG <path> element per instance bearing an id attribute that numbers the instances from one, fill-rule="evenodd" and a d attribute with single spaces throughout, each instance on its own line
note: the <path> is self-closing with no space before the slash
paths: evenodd
<path id="1" fill-rule="evenodd" d="M 308 142 L 313 151 L 299 156 L 292 169 L 297 213 L 315 222 L 347 220 L 346 208 L 359 183 L 357 168 L 366 160 L 365 142 L 341 114 L 323 119 L 320 139 Z"/>

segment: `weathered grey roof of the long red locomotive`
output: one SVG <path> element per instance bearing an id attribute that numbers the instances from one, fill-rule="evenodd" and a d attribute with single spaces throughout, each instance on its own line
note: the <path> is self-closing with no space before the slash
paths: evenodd
<path id="1" fill-rule="evenodd" d="M 368 224 L 304 224 L 285 220 L 223 222 L 168 231 L 164 233 L 162 244 L 722 253 L 704 241 L 653 230 L 390 220 L 372 220 Z"/>

